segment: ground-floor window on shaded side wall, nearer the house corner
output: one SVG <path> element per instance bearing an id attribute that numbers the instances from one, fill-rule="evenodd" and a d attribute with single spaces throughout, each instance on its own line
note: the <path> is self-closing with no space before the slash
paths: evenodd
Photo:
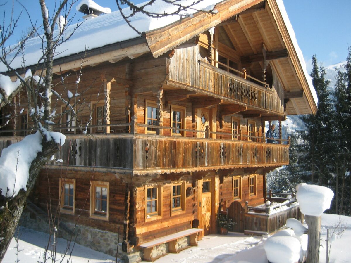
<path id="1" fill-rule="evenodd" d="M 90 217 L 108 220 L 109 189 L 108 182 L 92 181 L 90 187 Z"/>

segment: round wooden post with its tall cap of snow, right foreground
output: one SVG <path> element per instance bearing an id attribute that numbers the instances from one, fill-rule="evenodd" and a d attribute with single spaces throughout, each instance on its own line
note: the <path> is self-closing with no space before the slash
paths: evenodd
<path id="1" fill-rule="evenodd" d="M 320 220 L 323 212 L 330 208 L 334 193 L 327 187 L 300 183 L 296 187 L 296 199 L 308 225 L 307 263 L 318 263 L 320 242 Z"/>

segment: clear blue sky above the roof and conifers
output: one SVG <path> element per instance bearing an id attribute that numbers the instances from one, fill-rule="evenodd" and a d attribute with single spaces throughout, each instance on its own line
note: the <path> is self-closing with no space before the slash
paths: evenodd
<path id="1" fill-rule="evenodd" d="M 304 54 L 307 70 L 310 72 L 310 60 L 313 54 L 317 55 L 324 66 L 336 64 L 345 60 L 347 47 L 351 45 L 351 0 L 283 0 L 294 28 L 297 42 Z M 0 9 L 5 9 L 7 15 L 11 14 L 12 0 L 0 0 L 0 5 L 6 3 Z M 40 21 L 39 0 L 19 0 L 27 7 L 33 22 Z M 95 0 L 103 7 L 110 7 L 112 11 L 117 10 L 115 0 Z M 135 2 L 142 2 L 137 0 Z M 30 4 L 29 4 L 30 3 Z M 54 0 L 47 0 L 50 9 Z M 17 2 L 15 5 L 15 16 L 18 16 L 23 8 Z M 5 7 L 5 8 L 4 8 Z M 50 8 L 51 7 L 51 8 Z M 75 12 L 75 8 L 73 10 Z M 3 13 L 0 13 L 2 22 Z M 81 15 L 78 14 L 77 18 Z M 11 44 L 20 39 L 20 33 L 30 27 L 28 15 L 22 13 L 16 35 L 11 39 Z M 10 43 L 9 43 L 10 44 Z"/>

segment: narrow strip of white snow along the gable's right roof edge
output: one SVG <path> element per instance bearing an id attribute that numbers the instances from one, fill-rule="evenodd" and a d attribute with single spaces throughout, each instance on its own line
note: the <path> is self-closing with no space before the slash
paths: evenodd
<path id="1" fill-rule="evenodd" d="M 308 84 L 308 86 L 309 86 L 309 88 L 311 90 L 313 100 L 316 103 L 316 105 L 318 105 L 317 92 L 316 92 L 316 90 L 313 87 L 311 76 L 307 73 L 306 62 L 305 62 L 304 56 L 302 54 L 302 51 L 301 51 L 301 49 L 300 49 L 300 47 L 299 47 L 299 45 L 297 43 L 296 35 L 295 35 L 294 29 L 292 28 L 292 25 L 290 23 L 289 16 L 286 13 L 283 0 L 276 0 L 276 2 L 277 2 L 277 5 L 278 5 L 278 8 L 280 10 L 280 13 L 282 14 L 282 17 L 283 17 L 286 29 L 289 32 L 291 42 L 292 42 L 292 44 L 294 46 L 294 49 L 296 50 L 297 57 L 298 57 L 298 59 L 299 59 L 299 61 L 301 63 L 301 67 L 302 67 L 303 73 L 304 73 L 304 75 L 306 77 L 307 84 Z"/>

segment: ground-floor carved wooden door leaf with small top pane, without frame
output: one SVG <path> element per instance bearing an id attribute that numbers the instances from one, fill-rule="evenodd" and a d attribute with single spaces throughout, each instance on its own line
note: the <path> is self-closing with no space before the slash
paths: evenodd
<path id="1" fill-rule="evenodd" d="M 203 180 L 202 198 L 201 198 L 201 221 L 204 229 L 204 235 L 211 234 L 211 211 L 212 211 L 212 193 L 211 179 Z"/>

